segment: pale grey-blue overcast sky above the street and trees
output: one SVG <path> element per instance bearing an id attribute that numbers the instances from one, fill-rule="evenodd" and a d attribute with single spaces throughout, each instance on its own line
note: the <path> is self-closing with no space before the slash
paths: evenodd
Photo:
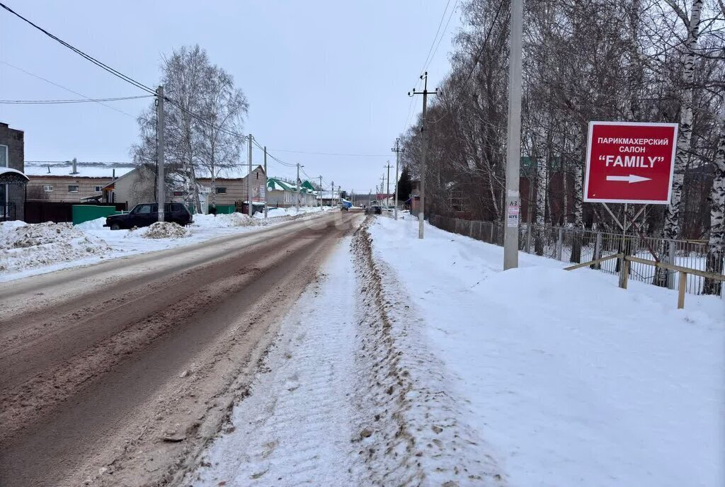
<path id="1" fill-rule="evenodd" d="M 1 0 L 59 38 L 146 86 L 162 54 L 199 43 L 233 75 L 250 103 L 245 132 L 310 176 L 357 193 L 375 188 L 405 129 L 407 91 L 423 67 L 447 0 L 123 1 Z M 449 12 L 455 0 L 450 1 Z M 448 20 L 443 20 L 441 30 Z M 452 15 L 428 67 L 434 88 L 450 70 Z M 144 94 L 17 17 L 0 10 L 0 99 Z M 8 64 L 14 67 L 10 67 Z M 0 104 L 0 121 L 25 130 L 25 159 L 129 161 L 136 116 L 149 100 L 99 104 Z M 421 111 L 415 97 L 413 116 Z M 126 115 L 128 114 L 128 115 Z M 130 116 L 129 116 L 130 115 Z M 413 117 L 410 117 L 413 120 Z M 331 157 L 287 149 L 384 157 Z M 246 151 L 245 151 L 246 162 Z M 254 150 L 254 162 L 261 162 Z M 270 175 L 294 169 L 268 159 Z M 394 169 L 392 170 L 394 172 Z M 393 176 L 391 176 L 393 178 Z"/>

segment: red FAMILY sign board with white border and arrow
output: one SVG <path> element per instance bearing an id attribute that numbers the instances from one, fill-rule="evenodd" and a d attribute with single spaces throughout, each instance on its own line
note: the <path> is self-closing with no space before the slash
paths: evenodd
<path id="1" fill-rule="evenodd" d="M 676 123 L 589 122 L 584 201 L 669 204 Z"/>

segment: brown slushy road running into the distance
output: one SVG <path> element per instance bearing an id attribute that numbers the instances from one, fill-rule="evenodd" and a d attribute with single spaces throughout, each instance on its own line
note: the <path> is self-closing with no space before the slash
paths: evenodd
<path id="1" fill-rule="evenodd" d="M 359 218 L 334 212 L 0 284 L 0 485 L 173 477 Z"/>

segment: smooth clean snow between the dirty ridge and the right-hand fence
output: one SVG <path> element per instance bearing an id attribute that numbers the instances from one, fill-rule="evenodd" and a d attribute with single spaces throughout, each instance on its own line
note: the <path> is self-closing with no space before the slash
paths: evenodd
<path id="1" fill-rule="evenodd" d="M 725 301 L 677 310 L 674 291 L 528 254 L 501 272 L 500 247 L 417 229 L 371 228 L 386 296 L 508 485 L 725 485 Z"/>

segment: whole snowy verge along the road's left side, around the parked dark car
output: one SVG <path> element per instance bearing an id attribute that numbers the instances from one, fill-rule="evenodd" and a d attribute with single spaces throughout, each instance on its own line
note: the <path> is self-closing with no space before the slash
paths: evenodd
<path id="1" fill-rule="evenodd" d="M 253 219 L 240 213 L 194 215 L 194 223 L 188 232 L 170 232 L 168 229 L 150 232 L 151 228 L 112 231 L 104 228 L 105 218 L 75 227 L 70 223 L 0 222 L 0 282 L 199 243 L 318 212 L 320 208 L 315 207 L 302 207 L 299 212 L 295 208 L 272 209 L 266 219 L 261 213 L 255 213 Z"/>

